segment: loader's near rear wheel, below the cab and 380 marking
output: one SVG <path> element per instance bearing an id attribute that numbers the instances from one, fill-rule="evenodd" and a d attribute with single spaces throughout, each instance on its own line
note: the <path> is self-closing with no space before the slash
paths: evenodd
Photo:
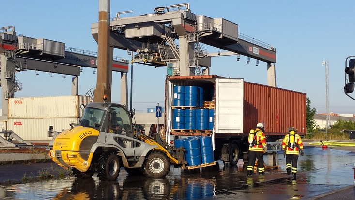
<path id="1" fill-rule="evenodd" d="M 97 168 L 97 176 L 102 181 L 116 180 L 120 173 L 120 161 L 118 156 L 114 153 L 102 154 L 99 159 L 99 166 Z"/>

